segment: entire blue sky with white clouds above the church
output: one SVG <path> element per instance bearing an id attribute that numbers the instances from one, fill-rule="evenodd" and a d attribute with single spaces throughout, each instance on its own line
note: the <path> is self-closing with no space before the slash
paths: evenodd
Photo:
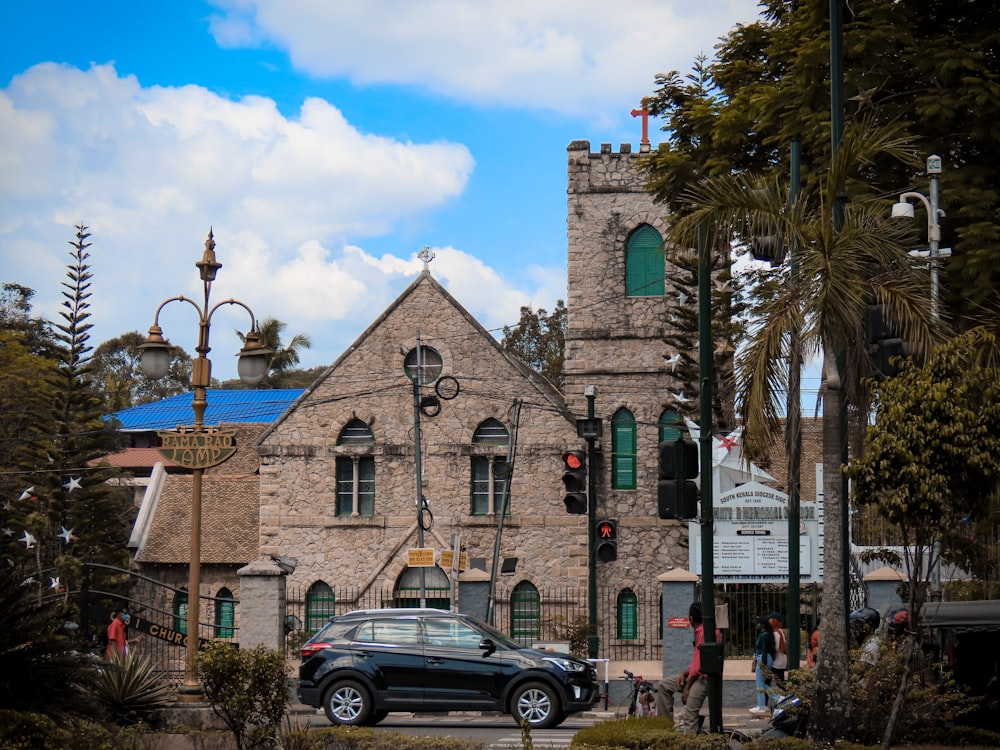
<path id="1" fill-rule="evenodd" d="M 0 282 L 55 318 L 74 225 L 92 343 L 213 301 L 331 363 L 431 271 L 487 328 L 565 298 L 566 146 L 638 146 L 658 72 L 690 70 L 756 0 L 0 2 Z M 658 141 L 658 127 L 651 140 Z M 165 335 L 193 351 L 194 311 Z M 217 377 L 233 331 L 213 317 Z M 416 333 L 416 332 L 414 332 Z"/>

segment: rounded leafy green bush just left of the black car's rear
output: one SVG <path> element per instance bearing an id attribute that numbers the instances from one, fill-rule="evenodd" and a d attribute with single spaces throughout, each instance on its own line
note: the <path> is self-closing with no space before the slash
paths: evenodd
<path id="1" fill-rule="evenodd" d="M 281 652 L 215 641 L 198 656 L 198 676 L 205 699 L 232 732 L 237 750 L 274 744 L 288 702 Z"/>

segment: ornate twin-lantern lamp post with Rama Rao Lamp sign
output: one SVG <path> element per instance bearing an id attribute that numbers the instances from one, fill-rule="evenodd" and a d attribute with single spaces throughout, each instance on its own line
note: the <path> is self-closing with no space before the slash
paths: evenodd
<path id="1" fill-rule="evenodd" d="M 257 321 L 253 311 L 246 304 L 236 299 L 227 299 L 209 306 L 212 282 L 222 264 L 215 258 L 215 239 L 212 231 L 205 240 L 205 253 L 200 261 L 195 263 L 201 276 L 205 290 L 202 304 L 184 296 L 170 297 L 160 303 L 153 317 L 153 325 L 149 328 L 149 337 L 140 345 L 140 365 L 143 373 L 153 379 L 162 378 L 170 368 L 170 355 L 173 347 L 163 337 L 160 328 L 160 311 L 171 302 L 187 302 L 198 313 L 198 345 L 195 351 L 198 356 L 193 361 L 191 373 L 191 388 L 194 398 L 191 407 L 194 410 L 194 424 L 190 427 L 178 427 L 176 430 L 159 432 L 161 439 L 160 452 L 171 461 L 191 469 L 191 554 L 188 570 L 188 613 L 186 656 L 184 660 L 184 684 L 181 685 L 181 699 L 197 697 L 201 692 L 198 684 L 197 659 L 199 644 L 199 614 L 201 587 L 201 496 L 202 477 L 205 469 L 216 466 L 236 452 L 233 432 L 223 432 L 217 427 L 205 426 L 205 409 L 208 406 L 207 389 L 211 383 L 212 363 L 208 359 L 211 351 L 209 333 L 211 331 L 212 315 L 224 305 L 239 305 L 250 315 L 250 332 L 244 337 L 243 348 L 239 352 L 237 370 L 240 379 L 247 385 L 256 385 L 267 374 L 268 357 L 273 352 L 260 343 L 257 334 Z"/>

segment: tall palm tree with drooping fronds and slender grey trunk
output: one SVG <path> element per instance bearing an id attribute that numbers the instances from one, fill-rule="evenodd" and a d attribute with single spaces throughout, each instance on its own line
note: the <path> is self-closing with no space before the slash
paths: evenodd
<path id="1" fill-rule="evenodd" d="M 876 129 L 859 123 L 849 129 L 830 168 L 794 205 L 788 185 L 747 175 L 707 178 L 685 194 L 689 211 L 677 220 L 668 242 L 695 246 L 698 227 L 714 241 L 748 243 L 778 238 L 795 248 L 796 273 L 776 271 L 783 283 L 769 285 L 771 294 L 756 302 L 756 325 L 738 357 L 737 411 L 744 422 L 744 451 L 751 460 L 766 453 L 780 430 L 780 410 L 789 377 L 788 361 L 798 341 L 806 355 L 823 362 L 823 496 L 825 557 L 821 612 L 823 648 L 816 681 L 816 706 L 810 731 L 817 737 L 842 736 L 850 721 L 845 534 L 847 501 L 842 489 L 845 420 L 866 421 L 871 372 L 866 310 L 883 305 L 901 337 L 915 342 L 922 354 L 943 335 L 931 315 L 929 281 L 906 252 L 906 228 L 887 221 L 888 204 L 874 199 L 871 187 L 858 178 L 875 160 L 895 158 L 916 163 L 910 141 L 898 128 Z M 843 221 L 834 226 L 835 200 L 849 194 Z M 795 334 L 795 335 L 793 335 Z"/>

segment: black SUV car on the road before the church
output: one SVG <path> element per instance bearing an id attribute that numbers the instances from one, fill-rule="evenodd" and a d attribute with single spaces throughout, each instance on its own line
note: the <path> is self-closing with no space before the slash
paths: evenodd
<path id="1" fill-rule="evenodd" d="M 375 724 L 390 711 L 502 711 L 552 727 L 599 697 L 581 659 L 522 648 L 474 617 L 437 609 L 340 615 L 300 651 L 299 700 L 334 724 Z"/>

